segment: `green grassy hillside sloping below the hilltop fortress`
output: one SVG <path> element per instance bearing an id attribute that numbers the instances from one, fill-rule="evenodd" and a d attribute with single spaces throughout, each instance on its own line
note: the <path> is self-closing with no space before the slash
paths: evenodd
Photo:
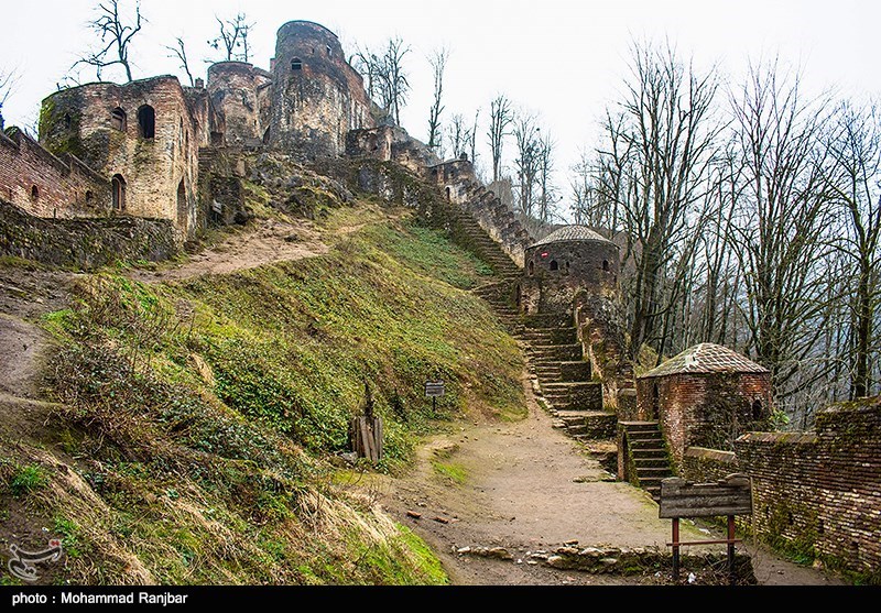
<path id="1" fill-rule="evenodd" d="M 445 582 L 334 473 L 366 388 L 387 429 L 369 470 L 403 470 L 457 416 L 521 416 L 516 346 L 465 291 L 488 275 L 396 211 L 318 258 L 159 285 L 83 276 L 43 321 L 59 403 L 45 439 L 0 441 L 3 532 L 63 538 L 48 582 Z"/>

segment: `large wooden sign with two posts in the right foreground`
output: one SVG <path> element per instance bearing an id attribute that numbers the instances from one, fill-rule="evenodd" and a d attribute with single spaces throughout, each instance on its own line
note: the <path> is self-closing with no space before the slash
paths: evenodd
<path id="1" fill-rule="evenodd" d="M 724 540 L 679 540 L 681 517 L 728 516 L 728 538 Z M 661 481 L 659 517 L 673 519 L 673 580 L 679 579 L 679 547 L 686 545 L 728 545 L 728 573 L 735 582 L 735 515 L 752 515 L 752 489 L 746 474 L 729 474 L 716 483 L 692 483 L 678 477 Z"/>

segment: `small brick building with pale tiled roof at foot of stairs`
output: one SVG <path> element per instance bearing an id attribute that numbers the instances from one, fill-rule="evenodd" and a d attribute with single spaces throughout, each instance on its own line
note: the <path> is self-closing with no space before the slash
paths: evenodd
<path id="1" fill-rule="evenodd" d="M 637 377 L 637 412 L 660 422 L 678 468 L 689 447 L 732 451 L 740 435 L 768 429 L 771 373 L 726 347 L 696 344 Z"/>

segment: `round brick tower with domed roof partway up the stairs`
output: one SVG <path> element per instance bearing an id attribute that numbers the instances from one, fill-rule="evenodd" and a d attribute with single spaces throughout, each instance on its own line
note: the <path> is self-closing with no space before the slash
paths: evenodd
<path id="1" fill-rule="evenodd" d="M 616 296 L 618 245 L 586 226 L 564 226 L 529 247 L 518 305 L 526 314 L 573 313 L 579 292 Z"/>

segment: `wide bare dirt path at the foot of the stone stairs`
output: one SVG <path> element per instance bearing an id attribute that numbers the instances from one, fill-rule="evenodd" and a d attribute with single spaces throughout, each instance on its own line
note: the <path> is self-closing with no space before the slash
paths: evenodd
<path id="1" fill-rule="evenodd" d="M 529 554 L 552 551 L 573 540 L 579 547 L 664 550 L 670 521 L 659 519 L 657 505 L 644 491 L 614 481 L 578 442 L 553 429 L 525 376 L 524 391 L 529 416 L 522 422 L 469 424 L 433 439 L 420 451 L 412 474 L 382 483 L 387 508 L 432 545 L 456 584 L 661 582 L 654 577 L 559 571 L 531 561 Z M 439 474 L 433 462 L 458 469 L 463 482 Z M 707 539 L 711 532 L 683 522 L 683 539 Z M 502 547 L 513 560 L 456 554 L 465 547 Z M 714 547 L 720 550 L 705 549 Z M 840 583 L 766 551 L 748 551 L 762 584 Z"/>

